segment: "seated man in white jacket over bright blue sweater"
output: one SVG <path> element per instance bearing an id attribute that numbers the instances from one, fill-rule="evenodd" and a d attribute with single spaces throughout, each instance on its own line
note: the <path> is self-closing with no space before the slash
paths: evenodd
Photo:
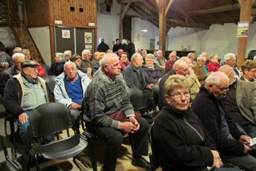
<path id="1" fill-rule="evenodd" d="M 77 126 L 79 126 L 79 109 L 89 82 L 91 80 L 85 73 L 78 71 L 76 64 L 73 62 L 66 62 L 64 64 L 64 72 L 56 78 L 56 86 L 54 88 L 55 101 L 69 107 Z"/>

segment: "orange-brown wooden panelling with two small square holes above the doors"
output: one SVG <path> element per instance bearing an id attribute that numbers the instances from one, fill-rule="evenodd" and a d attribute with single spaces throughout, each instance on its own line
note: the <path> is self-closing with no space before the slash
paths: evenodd
<path id="1" fill-rule="evenodd" d="M 51 25 L 55 20 L 62 20 L 62 26 L 96 28 L 97 11 L 96 0 L 49 0 Z M 70 8 L 74 7 L 74 11 Z M 79 9 L 83 9 L 80 12 Z M 88 26 L 88 23 L 94 23 L 95 26 Z"/>

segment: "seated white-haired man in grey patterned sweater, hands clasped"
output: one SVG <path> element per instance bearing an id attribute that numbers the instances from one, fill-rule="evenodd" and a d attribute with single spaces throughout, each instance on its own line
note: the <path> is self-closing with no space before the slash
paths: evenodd
<path id="1" fill-rule="evenodd" d="M 142 157 L 148 155 L 148 123 L 141 116 L 135 117 L 126 87 L 116 79 L 121 74 L 119 57 L 107 53 L 101 60 L 101 69 L 87 87 L 84 100 L 87 128 L 106 142 L 101 170 L 115 170 L 124 133 L 132 140 L 132 165 L 150 170 L 148 161 Z M 122 120 L 114 117 L 117 113 Z"/>

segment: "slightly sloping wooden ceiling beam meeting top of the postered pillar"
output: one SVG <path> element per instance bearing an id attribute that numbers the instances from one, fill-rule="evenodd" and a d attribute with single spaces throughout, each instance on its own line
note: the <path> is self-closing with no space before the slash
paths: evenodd
<path id="1" fill-rule="evenodd" d="M 207 10 L 194 10 L 194 11 L 189 11 L 188 14 L 197 14 L 197 15 L 206 15 L 210 13 L 216 13 L 216 12 L 224 12 L 228 10 L 239 10 L 240 5 L 239 3 L 232 4 L 232 5 L 227 5 L 227 6 L 218 6 L 214 8 L 210 8 Z"/>

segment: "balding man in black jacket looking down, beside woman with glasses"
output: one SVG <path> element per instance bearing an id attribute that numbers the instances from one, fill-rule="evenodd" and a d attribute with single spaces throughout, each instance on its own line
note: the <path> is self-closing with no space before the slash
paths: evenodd
<path id="1" fill-rule="evenodd" d="M 227 115 L 221 97 L 226 96 L 230 79 L 225 73 L 211 73 L 200 87 L 193 111 L 216 143 L 221 159 L 246 170 L 256 170 L 256 159 L 250 156 L 250 136 L 239 131 Z"/>

